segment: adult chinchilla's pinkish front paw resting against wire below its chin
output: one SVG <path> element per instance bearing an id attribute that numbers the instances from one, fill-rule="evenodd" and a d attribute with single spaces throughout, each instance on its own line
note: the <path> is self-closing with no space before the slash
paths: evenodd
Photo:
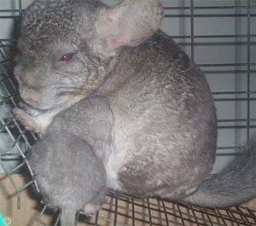
<path id="1" fill-rule="evenodd" d="M 37 125 L 35 124 L 34 120 L 24 110 L 15 107 L 13 110 L 13 114 L 15 119 L 20 121 L 20 124 L 24 125 L 26 130 L 30 130 L 30 131 L 36 130 Z"/>

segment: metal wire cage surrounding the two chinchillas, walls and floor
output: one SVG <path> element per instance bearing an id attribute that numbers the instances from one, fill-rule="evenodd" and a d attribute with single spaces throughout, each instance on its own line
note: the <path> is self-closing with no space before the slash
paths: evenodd
<path id="1" fill-rule="evenodd" d="M 39 202 L 38 216 L 30 223 L 24 224 L 15 215 L 10 217 L 4 212 L 7 203 L 4 200 L 9 198 L 4 192 L 6 181 L 13 188 L 11 194 L 15 195 L 20 210 L 26 202 L 22 195 L 30 193 L 35 183 L 26 154 L 38 137 L 19 125 L 12 114 L 19 98 L 12 72 L 13 46 L 19 27 L 16 25 L 22 9 L 31 2 L 0 0 L 0 224 L 2 212 L 6 225 L 15 226 L 57 225 L 60 218 L 59 212 L 49 214 L 48 206 Z M 212 173 L 218 173 L 255 136 L 256 1 L 166 0 L 163 5 L 163 29 L 201 67 L 212 89 L 218 108 L 217 164 Z M 12 21 L 15 29 L 9 35 L 8 24 Z M 31 210 L 26 212 L 29 214 Z M 49 215 L 54 217 L 49 219 Z M 166 200 L 141 200 L 109 191 L 106 203 L 95 217 L 86 219 L 81 213 L 79 219 L 79 223 L 86 222 L 81 225 L 102 226 L 256 225 L 256 205 L 207 209 Z"/>

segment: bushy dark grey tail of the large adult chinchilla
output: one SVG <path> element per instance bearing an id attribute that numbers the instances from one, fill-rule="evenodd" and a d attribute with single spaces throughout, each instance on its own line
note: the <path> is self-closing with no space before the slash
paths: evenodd
<path id="1" fill-rule="evenodd" d="M 236 206 L 256 196 L 256 146 L 244 151 L 224 171 L 202 181 L 183 201 L 197 206 Z"/>

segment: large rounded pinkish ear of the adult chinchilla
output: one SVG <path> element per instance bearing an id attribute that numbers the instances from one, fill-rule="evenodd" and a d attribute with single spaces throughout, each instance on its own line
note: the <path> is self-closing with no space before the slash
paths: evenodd
<path id="1" fill-rule="evenodd" d="M 96 40 L 105 51 L 120 46 L 137 46 L 160 26 L 163 9 L 160 0 L 124 0 L 102 9 L 96 18 Z"/>

